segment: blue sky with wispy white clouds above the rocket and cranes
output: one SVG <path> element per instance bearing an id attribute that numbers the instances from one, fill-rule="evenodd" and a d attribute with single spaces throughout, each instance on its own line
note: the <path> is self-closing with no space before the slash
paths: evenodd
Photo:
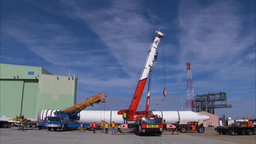
<path id="1" fill-rule="evenodd" d="M 159 56 L 149 109 L 185 110 L 187 69 L 195 95 L 227 92 L 228 116 L 256 116 L 255 0 L 1 0 L 0 61 L 78 75 L 77 102 L 105 92 L 127 109 L 155 31 Z M 163 47 L 168 92 L 163 99 Z M 145 109 L 147 85 L 138 110 Z M 182 99 L 182 107 L 181 107 Z M 216 109 L 222 116 L 225 109 Z"/>

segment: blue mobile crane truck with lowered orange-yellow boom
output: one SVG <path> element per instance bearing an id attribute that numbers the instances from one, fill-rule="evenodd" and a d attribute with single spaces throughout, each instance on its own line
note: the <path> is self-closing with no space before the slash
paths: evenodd
<path id="1" fill-rule="evenodd" d="M 51 131 L 51 129 L 53 129 L 53 131 L 57 131 L 57 129 L 61 131 L 71 131 L 79 127 L 89 126 L 90 124 L 77 122 L 77 120 L 80 120 L 80 112 L 86 107 L 93 106 L 93 104 L 99 102 L 105 102 L 104 93 L 96 94 L 72 107 L 54 112 L 54 117 L 46 117 L 46 120 L 43 123 L 38 123 L 37 127 L 40 129 L 45 127 L 48 131 Z"/>

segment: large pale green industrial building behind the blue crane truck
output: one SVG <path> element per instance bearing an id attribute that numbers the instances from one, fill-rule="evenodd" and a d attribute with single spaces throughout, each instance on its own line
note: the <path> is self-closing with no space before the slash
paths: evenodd
<path id="1" fill-rule="evenodd" d="M 36 119 L 42 109 L 76 102 L 77 77 L 51 75 L 42 67 L 0 64 L 0 118 Z"/>

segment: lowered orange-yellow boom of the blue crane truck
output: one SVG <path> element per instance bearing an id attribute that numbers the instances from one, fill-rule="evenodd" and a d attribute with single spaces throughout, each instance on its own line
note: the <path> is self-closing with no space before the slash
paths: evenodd
<path id="1" fill-rule="evenodd" d="M 85 109 L 86 107 L 91 106 L 95 103 L 99 103 L 99 102 L 102 102 L 102 103 L 105 102 L 105 94 L 104 93 L 96 94 L 88 99 L 85 99 L 85 101 L 82 101 L 78 104 L 73 105 L 72 107 L 68 107 L 67 109 L 63 109 L 61 111 L 65 111 L 68 115 L 68 114 L 71 114 L 71 113 L 74 113 L 77 111 L 80 112 L 83 109 Z"/>

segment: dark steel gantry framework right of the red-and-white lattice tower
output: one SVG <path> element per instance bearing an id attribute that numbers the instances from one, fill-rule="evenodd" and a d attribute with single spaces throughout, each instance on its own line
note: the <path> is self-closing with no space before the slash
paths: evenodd
<path id="1" fill-rule="evenodd" d="M 205 93 L 195 96 L 196 112 L 209 112 L 214 114 L 216 108 L 231 108 L 232 104 L 227 104 L 227 93 Z"/>

